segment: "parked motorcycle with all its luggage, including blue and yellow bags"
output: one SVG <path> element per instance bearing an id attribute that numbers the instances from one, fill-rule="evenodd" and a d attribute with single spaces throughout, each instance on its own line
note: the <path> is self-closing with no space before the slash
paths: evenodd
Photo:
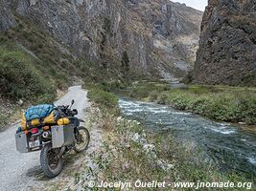
<path id="1" fill-rule="evenodd" d="M 15 134 L 16 149 L 20 153 L 41 150 L 41 169 L 48 178 L 57 177 L 62 171 L 65 153 L 70 150 L 81 153 L 88 147 L 90 135 L 85 127 L 80 126 L 84 121 L 75 117 L 78 111 L 71 110 L 74 102 L 72 100 L 70 107 L 38 105 L 29 108 L 23 118 L 26 122 L 22 120 L 24 127 Z M 42 111 L 44 114 L 38 115 Z"/>

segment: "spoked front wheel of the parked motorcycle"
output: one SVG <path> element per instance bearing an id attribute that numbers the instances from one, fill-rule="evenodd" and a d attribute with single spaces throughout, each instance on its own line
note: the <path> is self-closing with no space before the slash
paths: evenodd
<path id="1" fill-rule="evenodd" d="M 89 131 L 85 127 L 78 127 L 77 143 L 74 147 L 74 151 L 81 153 L 88 148 L 90 142 Z"/>

